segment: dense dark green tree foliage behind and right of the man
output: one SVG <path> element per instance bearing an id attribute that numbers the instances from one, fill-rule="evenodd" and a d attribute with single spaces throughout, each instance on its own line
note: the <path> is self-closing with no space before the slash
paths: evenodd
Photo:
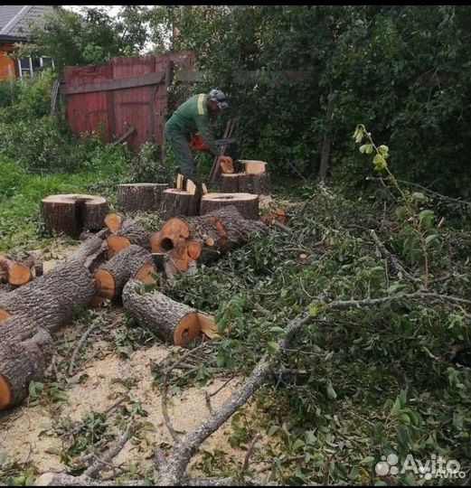
<path id="1" fill-rule="evenodd" d="M 155 7 L 150 26 L 159 50 L 165 26 L 178 29 L 172 47 L 196 52 L 205 71 L 193 90 L 228 93 L 224 117 L 236 121 L 243 157 L 268 161 L 273 175 L 315 176 L 330 136 L 332 177 L 363 187 L 371 170 L 347 142 L 362 119 L 400 148 L 398 178 L 469 198 L 470 22 L 454 5 L 173 5 Z M 238 70 L 266 75 L 240 85 Z M 307 76 L 290 82 L 285 70 Z"/>

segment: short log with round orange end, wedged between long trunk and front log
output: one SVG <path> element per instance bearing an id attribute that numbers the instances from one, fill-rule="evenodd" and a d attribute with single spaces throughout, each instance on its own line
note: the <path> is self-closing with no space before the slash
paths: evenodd
<path id="1" fill-rule="evenodd" d="M 127 280 L 136 277 L 141 268 L 149 264 L 152 266 L 151 254 L 146 249 L 131 244 L 93 274 L 97 296 L 118 299 Z M 143 270 L 141 277 L 147 278 L 146 271 Z"/>

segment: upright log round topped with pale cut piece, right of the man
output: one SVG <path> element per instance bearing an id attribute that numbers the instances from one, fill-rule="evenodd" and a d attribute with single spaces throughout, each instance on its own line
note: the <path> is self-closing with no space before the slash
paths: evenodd
<path id="1" fill-rule="evenodd" d="M 270 179 L 267 163 L 263 161 L 240 160 L 238 173 L 229 172 L 221 166 L 221 192 L 235 193 L 247 192 L 258 195 L 268 195 L 270 192 Z"/>

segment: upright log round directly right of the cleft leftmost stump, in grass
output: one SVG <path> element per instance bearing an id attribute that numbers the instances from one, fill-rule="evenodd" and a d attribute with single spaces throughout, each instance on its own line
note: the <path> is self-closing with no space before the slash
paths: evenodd
<path id="1" fill-rule="evenodd" d="M 157 211 L 166 183 L 118 184 L 118 207 L 123 211 Z"/>

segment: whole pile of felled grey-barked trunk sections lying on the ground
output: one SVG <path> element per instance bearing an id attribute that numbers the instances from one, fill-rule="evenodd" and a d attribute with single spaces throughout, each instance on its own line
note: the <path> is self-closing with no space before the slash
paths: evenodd
<path id="1" fill-rule="evenodd" d="M 150 293 L 145 289 L 146 284 L 155 284 L 157 274 L 151 243 L 176 274 L 192 263 L 212 261 L 267 230 L 263 222 L 244 219 L 233 205 L 202 216 L 172 218 L 152 235 L 139 221 L 120 214 L 108 214 L 104 221 L 107 229 L 86 239 L 49 274 L 0 294 L 4 332 L 0 409 L 21 403 L 29 382 L 43 379 L 52 359 L 52 333 L 94 301 L 122 299 L 138 324 L 176 345 L 185 346 L 202 334 L 215 336 L 211 316 L 178 304 L 155 288 Z M 9 262 L 5 267 L 6 276 L 17 276 Z"/>

